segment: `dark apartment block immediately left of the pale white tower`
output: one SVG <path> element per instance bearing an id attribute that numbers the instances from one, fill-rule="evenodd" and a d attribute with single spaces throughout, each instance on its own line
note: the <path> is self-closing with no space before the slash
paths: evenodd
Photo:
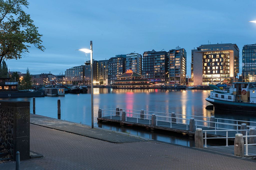
<path id="1" fill-rule="evenodd" d="M 124 72 L 125 58 L 111 57 L 108 61 L 108 84 L 113 83 L 114 80 L 117 80 L 117 76 L 123 74 Z"/>

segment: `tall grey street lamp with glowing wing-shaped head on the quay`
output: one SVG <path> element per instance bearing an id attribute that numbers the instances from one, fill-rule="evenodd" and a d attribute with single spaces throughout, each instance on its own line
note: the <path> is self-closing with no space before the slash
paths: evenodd
<path id="1" fill-rule="evenodd" d="M 85 53 L 90 53 L 91 54 L 91 108 L 92 108 L 92 111 L 91 111 L 91 116 L 92 116 L 92 128 L 93 128 L 93 70 L 92 70 L 92 41 L 90 41 L 90 50 L 89 49 L 80 49 L 79 51 L 83 51 Z M 84 63 L 86 65 L 89 65 L 89 63 Z"/>

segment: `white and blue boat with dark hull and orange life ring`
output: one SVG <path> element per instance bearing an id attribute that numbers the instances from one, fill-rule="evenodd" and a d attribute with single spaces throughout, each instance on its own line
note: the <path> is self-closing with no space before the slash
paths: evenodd
<path id="1" fill-rule="evenodd" d="M 256 82 L 232 83 L 228 90 L 221 90 L 209 84 L 212 89 L 206 101 L 214 105 L 214 109 L 247 113 L 256 113 Z"/>

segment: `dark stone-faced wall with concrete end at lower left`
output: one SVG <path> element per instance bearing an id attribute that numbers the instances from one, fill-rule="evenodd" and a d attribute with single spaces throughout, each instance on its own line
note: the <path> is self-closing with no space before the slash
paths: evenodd
<path id="1" fill-rule="evenodd" d="M 29 159 L 29 101 L 0 101 L 0 145 L 20 160 Z"/>

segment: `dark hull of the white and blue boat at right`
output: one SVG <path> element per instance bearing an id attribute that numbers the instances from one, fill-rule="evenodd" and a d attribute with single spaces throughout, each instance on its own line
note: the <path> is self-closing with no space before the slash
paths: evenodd
<path id="1" fill-rule="evenodd" d="M 246 113 L 256 113 L 256 103 L 241 103 L 236 101 L 223 101 L 219 99 L 212 99 L 207 97 L 205 99 L 209 103 L 214 105 L 214 110 L 227 110 L 232 112 L 246 112 Z"/>

